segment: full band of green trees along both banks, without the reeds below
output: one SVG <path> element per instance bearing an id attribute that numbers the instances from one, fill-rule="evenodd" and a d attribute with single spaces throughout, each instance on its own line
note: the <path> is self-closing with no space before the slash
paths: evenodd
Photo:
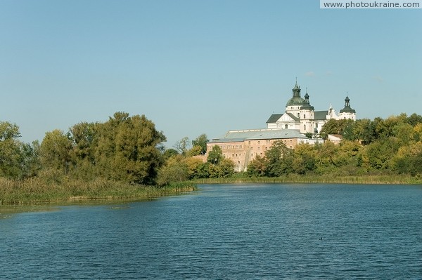
<path id="1" fill-rule="evenodd" d="M 320 136 L 342 135 L 339 145 L 325 141 L 288 149 L 276 142 L 248 164 L 249 177 L 288 174 L 368 175 L 422 173 L 422 116 L 400 114 L 387 119 L 329 120 Z M 312 136 L 312 135 L 311 135 Z M 19 140 L 16 124 L 0 121 L 0 177 L 104 178 L 139 185 L 168 185 L 198 178 L 229 178 L 234 162 L 218 146 L 207 152 L 207 135 L 182 138 L 170 149 L 146 116 L 116 112 L 106 122 L 75 124 L 53 130 L 39 143 Z M 202 157 L 201 157 L 202 156 Z"/>

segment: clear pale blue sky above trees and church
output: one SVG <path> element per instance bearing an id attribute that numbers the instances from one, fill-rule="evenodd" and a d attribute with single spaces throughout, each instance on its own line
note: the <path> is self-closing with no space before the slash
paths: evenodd
<path id="1" fill-rule="evenodd" d="M 21 140 L 117 111 L 167 147 L 265 128 L 295 78 L 316 110 L 422 114 L 422 9 L 319 0 L 0 0 L 0 121 Z"/>

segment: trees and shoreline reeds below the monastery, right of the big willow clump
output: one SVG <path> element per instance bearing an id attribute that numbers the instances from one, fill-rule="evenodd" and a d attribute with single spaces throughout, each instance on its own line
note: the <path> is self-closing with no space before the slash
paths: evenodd
<path id="1" fill-rule="evenodd" d="M 340 135 L 342 140 L 327 141 L 329 134 Z M 173 178 L 170 169 L 176 165 L 179 176 L 184 174 L 183 179 L 195 182 L 422 183 L 422 116 L 331 119 L 318 136 L 326 141 L 295 149 L 276 142 L 263 156 L 250 161 L 243 173 L 234 173 L 233 162 L 224 159 L 218 146 L 206 162 L 188 156 L 198 150 L 193 146 L 167 161 L 167 175 Z"/>

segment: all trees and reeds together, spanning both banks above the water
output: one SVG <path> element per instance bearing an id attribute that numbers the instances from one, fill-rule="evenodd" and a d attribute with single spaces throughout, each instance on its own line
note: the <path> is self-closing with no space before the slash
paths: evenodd
<path id="1" fill-rule="evenodd" d="M 330 120 L 320 135 L 343 140 L 288 149 L 276 142 L 236 173 L 207 136 L 165 149 L 165 135 L 145 116 L 117 112 L 47 132 L 41 144 L 19 140 L 0 121 L 0 205 L 72 199 L 150 199 L 195 189 L 198 182 L 422 182 L 422 116 Z M 312 137 L 312 135 L 309 135 Z"/>

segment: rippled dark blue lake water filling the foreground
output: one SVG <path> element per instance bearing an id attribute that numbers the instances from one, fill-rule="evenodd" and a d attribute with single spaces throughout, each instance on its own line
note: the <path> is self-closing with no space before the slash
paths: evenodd
<path id="1" fill-rule="evenodd" d="M 199 187 L 0 208 L 0 279 L 422 279 L 420 185 Z"/>

